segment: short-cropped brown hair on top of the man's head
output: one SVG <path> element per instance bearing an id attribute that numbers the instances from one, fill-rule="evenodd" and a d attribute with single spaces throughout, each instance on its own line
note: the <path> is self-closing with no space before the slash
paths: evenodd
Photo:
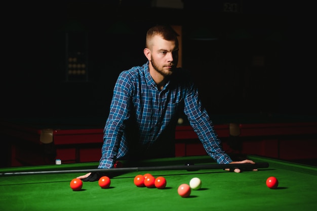
<path id="1" fill-rule="evenodd" d="M 174 31 L 174 29 L 171 26 L 156 25 L 147 30 L 145 47 L 149 47 L 149 40 L 155 35 L 159 35 L 165 40 L 169 40 L 169 41 L 174 40 L 175 43 L 178 45 L 178 39 L 177 39 L 178 34 Z"/>

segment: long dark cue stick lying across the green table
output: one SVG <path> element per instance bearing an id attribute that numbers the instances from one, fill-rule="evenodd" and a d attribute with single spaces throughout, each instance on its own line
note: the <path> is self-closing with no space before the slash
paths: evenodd
<path id="1" fill-rule="evenodd" d="M 53 171 L 32 171 L 32 172 L 4 172 L 0 176 L 13 175 L 34 175 L 34 174 L 61 174 L 61 173 L 88 173 L 88 172 L 138 172 L 138 171 L 163 171 L 163 170 L 203 170 L 203 169 L 243 169 L 252 170 L 267 168 L 267 162 L 255 164 L 210 164 L 210 165 L 191 165 L 191 166 L 156 166 L 156 167 L 127 167 L 111 169 L 76 169 L 76 170 L 53 170 Z"/>

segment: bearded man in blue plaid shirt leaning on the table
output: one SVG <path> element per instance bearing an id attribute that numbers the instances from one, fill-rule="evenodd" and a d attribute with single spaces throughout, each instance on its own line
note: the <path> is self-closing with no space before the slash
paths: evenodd
<path id="1" fill-rule="evenodd" d="M 158 25 L 147 31 L 144 55 L 146 64 L 123 71 L 115 83 L 98 168 L 113 168 L 116 160 L 175 156 L 180 111 L 218 164 L 254 164 L 250 160 L 233 162 L 221 148 L 188 71 L 176 68 L 178 39 L 171 27 Z M 78 178 L 96 181 L 100 176 L 88 173 Z"/>

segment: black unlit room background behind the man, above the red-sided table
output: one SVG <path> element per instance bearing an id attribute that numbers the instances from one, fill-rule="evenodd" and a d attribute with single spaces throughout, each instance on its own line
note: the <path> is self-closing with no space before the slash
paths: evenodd
<path id="1" fill-rule="evenodd" d="M 146 30 L 162 23 L 182 26 L 182 66 L 210 114 L 315 116 L 313 2 L 184 0 L 182 9 L 145 0 L 5 2 L 2 117 L 106 118 L 118 74 L 146 62 Z M 193 40 L 200 27 L 217 39 Z M 78 31 L 87 36 L 88 75 L 69 80 L 65 34 Z"/>

